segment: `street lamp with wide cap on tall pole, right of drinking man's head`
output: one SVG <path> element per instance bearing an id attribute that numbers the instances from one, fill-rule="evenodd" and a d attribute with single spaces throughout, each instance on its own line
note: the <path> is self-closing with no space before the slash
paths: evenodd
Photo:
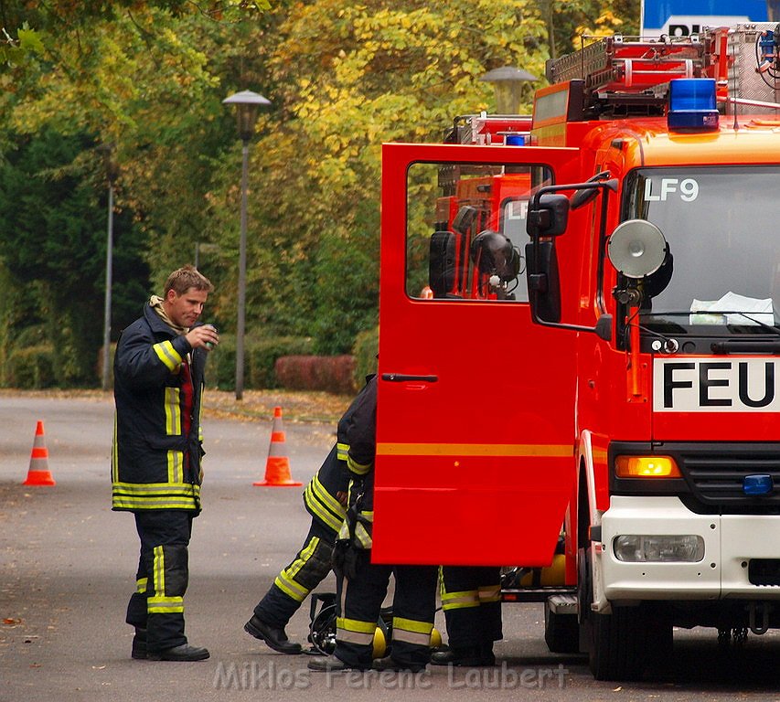
<path id="1" fill-rule="evenodd" d="M 246 277 L 247 277 L 247 191 L 249 180 L 249 143 L 254 133 L 254 123 L 261 107 L 267 107 L 271 101 L 251 90 L 242 90 L 222 101 L 225 105 L 236 106 L 239 124 L 241 148 L 241 231 L 239 241 L 239 312 L 236 322 L 236 399 L 244 394 L 244 324 L 246 318 Z"/>

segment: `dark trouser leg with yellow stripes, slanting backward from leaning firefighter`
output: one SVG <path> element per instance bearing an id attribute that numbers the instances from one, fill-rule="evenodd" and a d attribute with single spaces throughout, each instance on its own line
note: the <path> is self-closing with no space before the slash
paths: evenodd
<path id="1" fill-rule="evenodd" d="M 326 579 L 336 532 L 318 519 L 306 535 L 293 561 L 276 576 L 271 588 L 254 608 L 254 615 L 282 629 L 303 604 L 306 596 Z"/>

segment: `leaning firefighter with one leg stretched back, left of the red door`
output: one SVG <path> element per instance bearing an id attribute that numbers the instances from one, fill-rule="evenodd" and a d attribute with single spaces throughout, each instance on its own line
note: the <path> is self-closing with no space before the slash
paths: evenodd
<path id="1" fill-rule="evenodd" d="M 306 486 L 304 504 L 312 516 L 312 526 L 304 545 L 276 576 L 250 621 L 244 624 L 244 631 L 282 654 L 301 653 L 301 644 L 290 641 L 284 627 L 331 570 L 333 544 L 347 503 L 346 457 L 344 448 L 336 444 Z"/>

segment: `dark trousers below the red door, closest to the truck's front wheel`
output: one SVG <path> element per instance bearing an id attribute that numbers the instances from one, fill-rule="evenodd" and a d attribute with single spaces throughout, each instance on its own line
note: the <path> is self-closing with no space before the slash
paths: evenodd
<path id="1" fill-rule="evenodd" d="M 502 638 L 501 569 L 443 566 L 442 610 L 451 648 L 489 644 Z"/>

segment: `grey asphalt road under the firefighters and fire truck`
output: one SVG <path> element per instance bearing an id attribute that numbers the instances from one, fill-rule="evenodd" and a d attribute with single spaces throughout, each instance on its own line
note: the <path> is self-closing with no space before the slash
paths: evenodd
<path id="1" fill-rule="evenodd" d="M 22 485 L 44 421 L 54 487 Z M 305 483 L 334 427 L 285 422 L 293 477 Z M 265 422 L 206 420 L 204 512 L 195 522 L 187 635 L 211 658 L 134 661 L 124 624 L 134 588 L 133 518 L 111 511 L 109 399 L 0 397 L 0 701 L 37 700 L 732 700 L 778 699 L 780 637 L 721 652 L 711 630 L 675 633 L 674 658 L 642 683 L 593 681 L 582 656 L 550 654 L 540 605 L 505 605 L 505 639 L 489 670 L 429 666 L 416 676 L 310 673 L 243 632 L 255 603 L 294 555 L 308 516 L 302 488 L 255 487 Z M 508 528 L 512 528 L 508 520 Z M 332 591 L 327 580 L 318 591 Z M 308 602 L 288 633 L 305 642 Z M 441 612 L 437 627 L 443 629 Z"/>

